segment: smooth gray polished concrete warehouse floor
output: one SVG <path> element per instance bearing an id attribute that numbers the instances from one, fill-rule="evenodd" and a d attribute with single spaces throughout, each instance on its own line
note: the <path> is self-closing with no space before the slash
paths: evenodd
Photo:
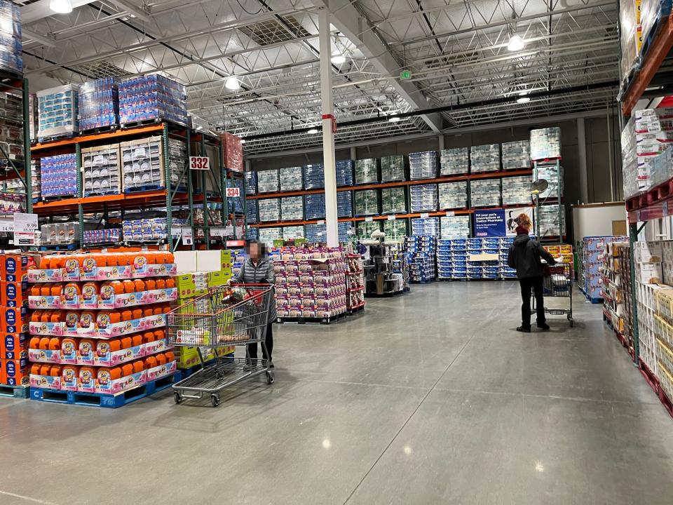
<path id="1" fill-rule="evenodd" d="M 673 419 L 600 307 L 522 334 L 518 297 L 414 285 L 276 325 L 276 384 L 217 409 L 0 398 L 0 504 L 673 503 Z"/>

